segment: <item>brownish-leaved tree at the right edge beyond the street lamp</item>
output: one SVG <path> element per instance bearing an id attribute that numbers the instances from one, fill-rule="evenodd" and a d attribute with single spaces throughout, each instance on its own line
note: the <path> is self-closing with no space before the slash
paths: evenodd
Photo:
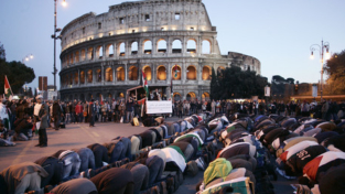
<path id="1" fill-rule="evenodd" d="M 325 66 L 328 78 L 326 83 L 332 88 L 332 94 L 345 93 L 345 50 L 341 53 L 333 54 Z"/>

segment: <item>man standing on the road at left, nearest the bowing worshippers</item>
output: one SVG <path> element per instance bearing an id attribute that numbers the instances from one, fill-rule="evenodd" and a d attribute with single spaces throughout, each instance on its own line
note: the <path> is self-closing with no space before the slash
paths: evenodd
<path id="1" fill-rule="evenodd" d="M 39 144 L 35 147 L 46 147 L 47 146 L 47 137 L 46 137 L 46 128 L 47 126 L 47 115 L 48 107 L 43 104 L 42 95 L 36 96 L 36 105 L 33 109 L 33 115 L 35 118 L 36 127 L 39 128 Z"/>

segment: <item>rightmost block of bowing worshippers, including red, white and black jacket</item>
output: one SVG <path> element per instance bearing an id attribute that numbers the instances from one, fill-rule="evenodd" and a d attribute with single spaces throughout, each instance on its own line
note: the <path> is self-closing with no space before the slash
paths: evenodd
<path id="1" fill-rule="evenodd" d="M 344 193 L 345 120 L 270 115 L 254 121 L 255 134 L 276 158 L 279 174 L 298 179 L 298 194 Z"/>

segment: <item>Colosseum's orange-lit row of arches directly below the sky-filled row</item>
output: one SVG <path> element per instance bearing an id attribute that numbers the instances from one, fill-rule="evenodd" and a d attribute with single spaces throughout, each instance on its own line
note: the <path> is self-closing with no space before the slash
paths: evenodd
<path id="1" fill-rule="evenodd" d="M 144 72 L 147 79 L 151 80 L 153 77 L 153 72 L 151 66 L 147 65 L 142 68 Z M 182 78 L 182 68 L 180 65 L 174 65 L 171 69 L 171 78 L 173 80 L 181 80 Z M 138 80 L 140 73 L 137 66 L 130 66 L 127 75 L 128 80 Z M 157 67 L 157 80 L 166 80 L 168 79 L 168 69 L 164 65 L 160 65 Z M 204 66 L 202 69 L 202 79 L 211 80 L 211 66 Z M 190 65 L 186 68 L 186 79 L 187 80 L 196 80 L 197 72 L 194 65 Z M 74 73 L 67 73 L 61 76 L 62 86 L 72 86 L 78 84 L 89 84 L 89 83 L 101 83 L 101 82 L 125 82 L 126 80 L 126 71 L 123 66 L 114 68 L 106 67 L 104 68 L 104 73 L 101 68 L 98 69 L 82 69 Z"/>

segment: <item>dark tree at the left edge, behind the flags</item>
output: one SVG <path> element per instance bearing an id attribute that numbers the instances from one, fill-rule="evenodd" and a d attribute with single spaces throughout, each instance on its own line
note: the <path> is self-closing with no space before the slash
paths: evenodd
<path id="1" fill-rule="evenodd" d="M 3 53 L 3 57 L 2 57 Z M 0 45 L 0 94 L 4 89 L 4 76 L 8 76 L 13 94 L 19 93 L 24 84 L 31 83 L 35 78 L 33 68 L 28 67 L 21 62 L 7 62 L 4 57 L 4 48 Z"/>

